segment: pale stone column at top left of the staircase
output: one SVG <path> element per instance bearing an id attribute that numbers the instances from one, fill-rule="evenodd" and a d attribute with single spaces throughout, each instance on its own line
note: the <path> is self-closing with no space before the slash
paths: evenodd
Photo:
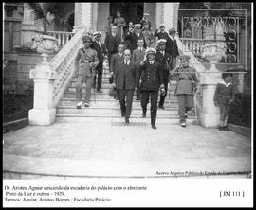
<path id="1" fill-rule="evenodd" d="M 93 20 L 93 4 L 94 3 L 75 3 L 75 26 L 73 31 L 76 32 L 81 28 L 92 30 Z"/>

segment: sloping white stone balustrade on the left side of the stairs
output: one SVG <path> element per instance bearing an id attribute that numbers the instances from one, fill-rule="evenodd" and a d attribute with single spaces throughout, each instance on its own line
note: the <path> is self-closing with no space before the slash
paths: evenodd
<path id="1" fill-rule="evenodd" d="M 82 47 L 82 36 L 86 29 L 80 29 L 61 51 L 50 61 L 52 71 L 56 72 L 53 83 L 53 106 L 56 107 L 64 95 L 64 89 L 72 79 L 75 68 L 75 58 Z"/>

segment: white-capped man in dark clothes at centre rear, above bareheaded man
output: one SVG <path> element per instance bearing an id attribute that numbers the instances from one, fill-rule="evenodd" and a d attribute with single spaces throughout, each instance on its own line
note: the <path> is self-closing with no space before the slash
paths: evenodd
<path id="1" fill-rule="evenodd" d="M 137 41 L 138 39 L 143 39 L 144 40 L 144 48 L 147 47 L 147 44 L 145 42 L 145 38 L 141 32 L 141 25 L 140 24 L 136 24 L 134 26 L 134 30 L 129 31 L 125 37 L 125 40 L 128 40 L 130 43 L 130 50 L 133 52 L 135 49 L 137 49 Z"/>

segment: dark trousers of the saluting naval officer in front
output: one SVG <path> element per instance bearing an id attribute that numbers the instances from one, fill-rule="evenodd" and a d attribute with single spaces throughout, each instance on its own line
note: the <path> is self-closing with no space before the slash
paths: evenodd
<path id="1" fill-rule="evenodd" d="M 143 114 L 147 112 L 147 105 L 149 103 L 149 97 L 151 99 L 151 108 L 150 108 L 150 116 L 151 116 L 151 124 L 155 125 L 156 114 L 157 114 L 157 97 L 158 91 L 141 91 L 141 107 Z"/>

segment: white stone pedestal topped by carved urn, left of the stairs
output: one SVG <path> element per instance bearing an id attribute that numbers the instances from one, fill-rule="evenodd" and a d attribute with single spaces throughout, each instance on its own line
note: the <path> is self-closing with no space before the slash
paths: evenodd
<path id="1" fill-rule="evenodd" d="M 34 107 L 29 110 L 30 125 L 50 125 L 55 121 L 56 109 L 53 107 L 53 81 L 55 72 L 47 61 L 47 53 L 57 51 L 56 39 L 40 36 L 34 39 L 31 47 L 42 53 L 43 61 L 30 70 L 30 79 L 34 80 Z"/>

